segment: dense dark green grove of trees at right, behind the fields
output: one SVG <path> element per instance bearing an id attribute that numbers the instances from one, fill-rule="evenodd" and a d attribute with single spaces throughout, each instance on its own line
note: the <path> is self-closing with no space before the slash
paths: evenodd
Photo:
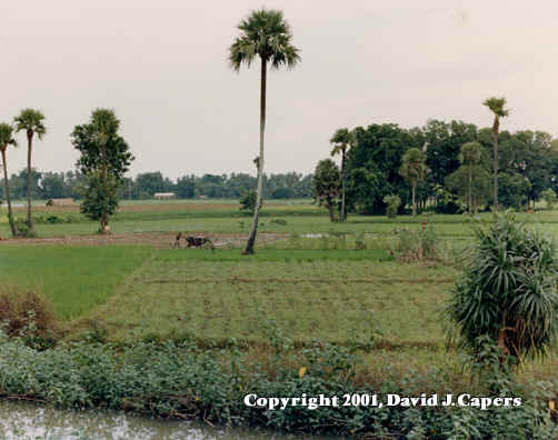
<path id="1" fill-rule="evenodd" d="M 399 200 L 402 212 L 477 212 L 529 209 L 558 191 L 558 140 L 537 130 L 500 130 L 506 100 L 486 100 L 490 128 L 464 121 L 429 120 L 403 129 L 395 123 L 339 129 L 331 159 L 315 170 L 316 198 L 332 220 L 345 212 L 383 214 Z"/>

